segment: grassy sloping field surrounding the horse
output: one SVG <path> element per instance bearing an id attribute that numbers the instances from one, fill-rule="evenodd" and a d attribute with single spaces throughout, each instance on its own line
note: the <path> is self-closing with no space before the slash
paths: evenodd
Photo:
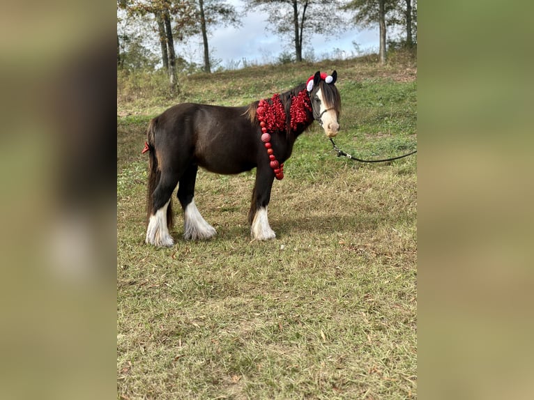
<path id="1" fill-rule="evenodd" d="M 361 157 L 416 146 L 416 68 L 368 60 L 183 77 L 119 76 L 118 399 L 415 399 L 417 158 L 335 157 L 314 124 L 269 205 L 275 240 L 251 241 L 254 171 L 199 171 L 195 202 L 218 235 L 144 245 L 149 119 L 181 101 L 245 105 L 338 72 L 337 144 Z M 163 89 L 162 89 L 163 88 Z"/>

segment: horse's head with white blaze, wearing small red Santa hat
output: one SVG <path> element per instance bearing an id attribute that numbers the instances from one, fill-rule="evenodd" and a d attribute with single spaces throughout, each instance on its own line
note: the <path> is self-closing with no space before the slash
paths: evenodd
<path id="1" fill-rule="evenodd" d="M 328 137 L 335 137 L 340 131 L 337 119 L 341 111 L 341 98 L 340 92 L 334 85 L 336 79 L 336 71 L 332 72 L 332 75 L 317 71 L 306 82 L 306 89 L 312 100 L 314 119 L 323 127 Z"/>

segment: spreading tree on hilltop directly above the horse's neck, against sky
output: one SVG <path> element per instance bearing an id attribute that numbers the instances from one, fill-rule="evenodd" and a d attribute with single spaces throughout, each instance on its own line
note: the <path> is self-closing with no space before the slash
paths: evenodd
<path id="1" fill-rule="evenodd" d="M 336 13 L 340 0 L 249 0 L 247 10 L 259 8 L 268 14 L 273 31 L 292 37 L 297 62 L 303 60 L 305 33 L 337 34 L 343 28 L 343 17 Z"/>

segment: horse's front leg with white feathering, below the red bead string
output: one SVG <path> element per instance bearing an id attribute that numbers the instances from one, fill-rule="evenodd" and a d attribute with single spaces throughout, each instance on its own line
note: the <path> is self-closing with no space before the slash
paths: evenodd
<path id="1" fill-rule="evenodd" d="M 273 187 L 275 175 L 270 168 L 258 167 L 256 171 L 256 183 L 252 191 L 252 201 L 248 220 L 250 223 L 250 235 L 255 240 L 268 240 L 276 238 L 275 231 L 270 229 L 267 217 L 267 206 L 270 200 L 270 189 Z"/>

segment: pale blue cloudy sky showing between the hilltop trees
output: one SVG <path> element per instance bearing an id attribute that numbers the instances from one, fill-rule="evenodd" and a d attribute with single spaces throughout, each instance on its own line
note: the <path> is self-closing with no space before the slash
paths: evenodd
<path id="1" fill-rule="evenodd" d="M 241 0 L 227 0 L 234 5 L 238 13 L 243 9 Z M 328 10 L 325 10 L 325 13 Z M 277 61 L 282 52 L 294 54 L 294 47 L 286 45 L 288 40 L 272 33 L 267 28 L 267 15 L 261 12 L 247 13 L 241 18 L 243 26 L 234 28 L 233 26 L 217 26 L 213 29 L 211 36 L 208 38 L 212 59 L 218 60 L 219 65 L 223 68 L 242 68 L 243 59 L 247 63 L 264 64 Z M 353 45 L 356 41 L 359 46 L 360 54 L 363 52 L 378 52 L 379 48 L 379 29 L 360 30 L 353 26 L 348 26 L 338 37 L 327 38 L 322 35 L 313 35 L 310 38 L 305 37 L 307 43 L 313 43 L 313 54 L 315 61 L 328 58 L 346 58 L 358 54 Z M 202 63 L 201 38 L 191 38 L 187 45 L 176 43 L 178 54 L 189 62 Z M 306 58 L 311 47 L 305 46 L 303 57 Z M 337 50 L 339 49 L 339 51 Z"/>

